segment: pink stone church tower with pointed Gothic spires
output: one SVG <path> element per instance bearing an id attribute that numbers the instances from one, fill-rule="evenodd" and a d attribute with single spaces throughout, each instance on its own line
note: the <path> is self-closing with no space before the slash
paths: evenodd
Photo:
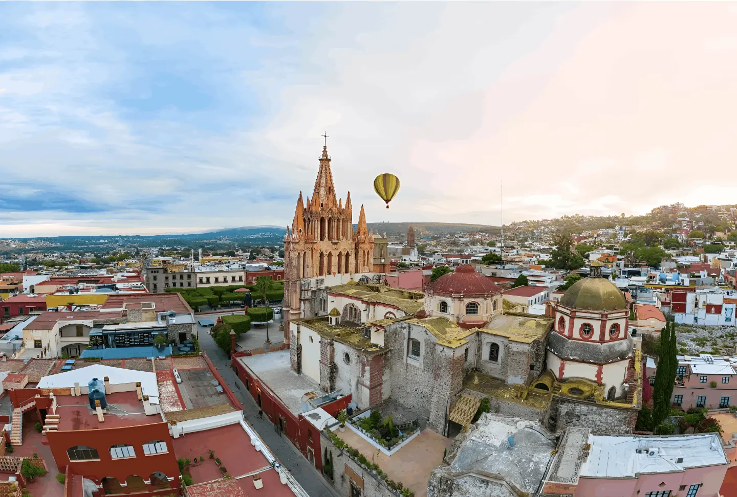
<path id="1" fill-rule="evenodd" d="M 335 197 L 330 156 L 323 147 L 312 198 L 304 202 L 299 192 L 291 229 L 287 226 L 284 234 L 285 345 L 290 342 L 290 321 L 303 314 L 302 280 L 372 272 L 373 253 L 374 236 L 366 228 L 363 205 L 354 232 L 351 193 L 346 205 Z"/>

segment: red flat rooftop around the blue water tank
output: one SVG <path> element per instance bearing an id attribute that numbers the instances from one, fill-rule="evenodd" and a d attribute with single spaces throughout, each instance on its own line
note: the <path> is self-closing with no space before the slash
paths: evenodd
<path id="1" fill-rule="evenodd" d="M 162 422 L 160 415 L 147 416 L 144 413 L 143 401 L 138 400 L 136 392 L 117 392 L 106 398 L 108 414 L 104 417 L 105 421 L 100 423 L 97 414 L 90 409 L 87 395 L 57 395 L 59 431 L 120 428 Z"/>

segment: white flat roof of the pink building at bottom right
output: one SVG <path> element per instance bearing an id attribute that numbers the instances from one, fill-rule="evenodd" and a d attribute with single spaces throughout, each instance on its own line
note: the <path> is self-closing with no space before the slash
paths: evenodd
<path id="1" fill-rule="evenodd" d="M 581 477 L 634 478 L 640 473 L 670 473 L 727 464 L 718 433 L 669 437 L 590 435 L 589 443 L 591 451 L 581 465 Z M 650 451 L 655 454 L 649 455 Z"/>

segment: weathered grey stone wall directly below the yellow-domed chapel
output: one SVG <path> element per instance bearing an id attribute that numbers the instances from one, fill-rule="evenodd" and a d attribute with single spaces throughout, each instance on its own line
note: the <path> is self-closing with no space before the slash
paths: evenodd
<path id="1" fill-rule="evenodd" d="M 558 431 L 567 426 L 585 426 L 593 434 L 632 433 L 638 409 L 618 409 L 589 402 L 553 396 L 548 429 Z"/>

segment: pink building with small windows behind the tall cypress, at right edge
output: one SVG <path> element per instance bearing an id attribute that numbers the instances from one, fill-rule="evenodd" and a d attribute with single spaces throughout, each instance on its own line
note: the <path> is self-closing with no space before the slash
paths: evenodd
<path id="1" fill-rule="evenodd" d="M 706 407 L 720 409 L 737 405 L 737 357 L 677 356 L 676 386 L 673 389 L 671 404 L 681 409 Z M 646 375 L 653 385 L 655 367 L 651 358 L 647 359 Z"/>

